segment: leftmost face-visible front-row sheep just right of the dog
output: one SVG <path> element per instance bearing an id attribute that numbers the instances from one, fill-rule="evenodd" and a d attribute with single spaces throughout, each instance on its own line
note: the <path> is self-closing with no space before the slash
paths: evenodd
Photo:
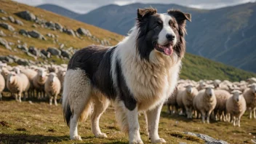
<path id="1" fill-rule="evenodd" d="M 193 98 L 199 93 L 199 91 L 192 84 L 188 84 L 180 95 L 185 107 L 185 112 L 188 119 L 192 119 L 193 112 Z"/>

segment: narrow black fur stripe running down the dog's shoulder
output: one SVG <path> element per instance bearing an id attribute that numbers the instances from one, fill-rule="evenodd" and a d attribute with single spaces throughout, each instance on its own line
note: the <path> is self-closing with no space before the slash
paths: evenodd
<path id="1" fill-rule="evenodd" d="M 119 64 L 119 60 L 116 60 L 116 76 L 117 76 L 117 84 L 119 87 L 119 97 L 124 102 L 124 105 L 129 111 L 132 111 L 136 108 L 137 101 L 134 99 L 131 92 L 127 87 L 127 84 L 124 80 L 124 75 L 121 71 L 121 65 Z"/>

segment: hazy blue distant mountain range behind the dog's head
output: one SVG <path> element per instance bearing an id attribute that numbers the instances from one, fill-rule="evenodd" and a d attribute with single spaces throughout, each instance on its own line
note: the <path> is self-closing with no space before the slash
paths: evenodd
<path id="1" fill-rule="evenodd" d="M 187 52 L 256 72 L 256 3 L 212 10 L 176 4 L 110 4 L 73 17 L 67 15 L 69 10 L 57 11 L 57 6 L 47 5 L 39 7 L 122 35 L 135 25 L 137 8 L 154 7 L 158 12 L 181 9 L 192 14 L 192 23 L 187 26 Z"/>

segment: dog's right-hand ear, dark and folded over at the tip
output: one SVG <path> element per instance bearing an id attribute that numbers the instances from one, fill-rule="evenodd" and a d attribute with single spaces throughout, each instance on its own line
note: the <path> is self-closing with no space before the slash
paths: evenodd
<path id="1" fill-rule="evenodd" d="M 179 25 L 183 25 L 185 23 L 185 20 L 188 20 L 191 22 L 191 14 L 183 13 L 180 10 L 174 10 L 174 9 L 169 9 L 167 12 L 169 15 L 172 15 L 173 17 L 175 17 Z"/>

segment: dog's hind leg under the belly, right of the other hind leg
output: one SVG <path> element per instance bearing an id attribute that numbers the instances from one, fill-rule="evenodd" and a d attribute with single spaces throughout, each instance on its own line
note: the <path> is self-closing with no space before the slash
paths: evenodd
<path id="1" fill-rule="evenodd" d="M 100 92 L 92 92 L 92 102 L 94 103 L 93 112 L 91 116 L 92 133 L 95 137 L 103 138 L 107 137 L 105 133 L 100 131 L 99 121 L 100 116 L 108 108 L 109 100 L 107 97 L 102 95 Z"/>

